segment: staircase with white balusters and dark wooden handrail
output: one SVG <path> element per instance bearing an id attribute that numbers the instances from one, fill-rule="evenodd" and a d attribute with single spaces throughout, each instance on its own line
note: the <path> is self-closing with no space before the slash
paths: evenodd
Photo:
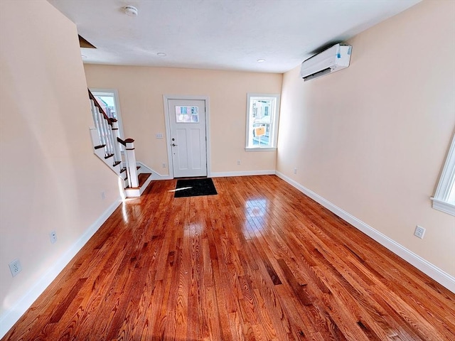
<path id="1" fill-rule="evenodd" d="M 118 136 L 117 119 L 109 118 L 88 90 L 95 127 L 90 128 L 93 152 L 120 179 L 126 197 L 140 197 L 151 183 L 151 170 L 139 166 L 134 153 L 134 140 Z"/>

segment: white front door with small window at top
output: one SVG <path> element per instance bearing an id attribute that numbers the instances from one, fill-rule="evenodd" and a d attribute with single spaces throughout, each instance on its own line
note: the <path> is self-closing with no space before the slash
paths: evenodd
<path id="1" fill-rule="evenodd" d="M 175 178 L 207 176 L 205 100 L 168 99 Z"/>

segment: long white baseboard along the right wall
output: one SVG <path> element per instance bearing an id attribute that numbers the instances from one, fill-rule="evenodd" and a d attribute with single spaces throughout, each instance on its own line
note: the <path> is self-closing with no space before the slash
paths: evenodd
<path id="1" fill-rule="evenodd" d="M 291 178 L 288 178 L 283 173 L 277 171 L 277 176 L 279 178 L 282 178 L 287 183 L 289 183 L 289 185 L 292 185 L 296 189 L 300 190 L 305 195 L 311 197 L 311 199 L 313 199 L 314 201 L 319 202 L 319 204 L 323 205 L 323 207 L 326 207 L 326 209 L 338 215 L 338 217 L 341 217 L 343 220 L 346 220 L 346 222 L 353 225 L 353 227 L 360 229 L 360 231 L 368 235 L 368 237 L 375 239 L 375 241 L 381 244 L 383 247 L 386 247 L 394 254 L 397 254 L 397 256 L 400 256 L 402 259 L 405 259 L 405 261 L 415 266 L 424 274 L 427 274 L 428 276 L 433 278 L 434 281 L 437 281 L 439 284 L 445 286 L 451 292 L 455 293 L 454 276 L 451 276 L 450 274 L 447 274 L 445 271 L 442 271 L 437 266 L 434 266 L 433 264 L 431 264 L 426 259 L 423 259 L 418 254 L 414 254 L 414 252 L 398 244 L 393 239 L 387 237 L 385 234 L 382 234 L 378 230 L 373 229 L 373 227 L 370 227 L 370 225 L 365 224 L 365 222 L 358 220 L 356 217 L 350 215 L 348 212 L 341 210 L 340 207 L 333 205 L 328 200 L 324 199 L 323 197 L 314 193 L 308 188 L 305 188 L 304 186 L 300 185 Z"/>

